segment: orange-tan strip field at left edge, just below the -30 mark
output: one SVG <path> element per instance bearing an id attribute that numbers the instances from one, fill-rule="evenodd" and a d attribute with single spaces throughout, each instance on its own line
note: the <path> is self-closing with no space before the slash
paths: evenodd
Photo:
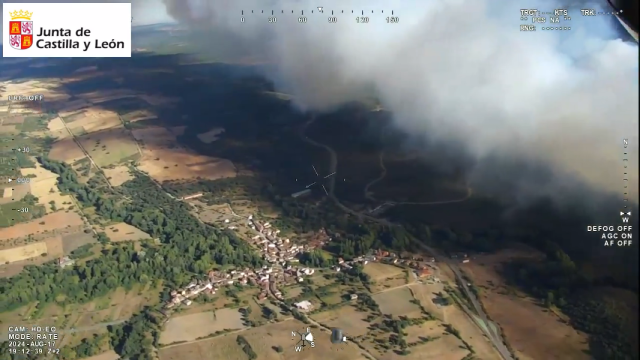
<path id="1" fill-rule="evenodd" d="M 49 234 L 51 236 L 55 235 L 56 231 L 70 232 L 74 229 L 77 231 L 83 226 L 84 222 L 76 212 L 57 211 L 39 219 L 0 229 L 0 242 L 29 235 Z"/>

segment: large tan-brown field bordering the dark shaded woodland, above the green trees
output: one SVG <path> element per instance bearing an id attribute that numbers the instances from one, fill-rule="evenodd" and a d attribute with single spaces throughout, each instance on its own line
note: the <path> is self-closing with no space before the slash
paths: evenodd
<path id="1" fill-rule="evenodd" d="M 178 146 L 175 135 L 166 128 L 135 129 L 132 133 L 142 148 L 138 169 L 159 183 L 236 176 L 236 169 L 231 161 L 200 155 Z"/>

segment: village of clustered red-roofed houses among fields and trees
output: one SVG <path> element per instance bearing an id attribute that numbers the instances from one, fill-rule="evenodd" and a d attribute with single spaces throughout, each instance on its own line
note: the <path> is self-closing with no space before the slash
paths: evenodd
<path id="1" fill-rule="evenodd" d="M 224 222 L 229 223 L 228 220 Z M 206 279 L 194 280 L 182 289 L 173 290 L 171 299 L 165 304 L 165 309 L 176 308 L 180 305 L 189 306 L 193 299 L 200 294 L 213 295 L 224 286 L 238 284 L 261 287 L 262 291 L 258 295 L 259 301 L 266 299 L 269 295 L 282 301 L 284 298 L 279 288 L 303 282 L 305 277 L 315 273 L 315 269 L 299 265 L 299 256 L 315 248 L 321 248 L 332 240 L 326 230 L 321 229 L 314 241 L 299 245 L 294 244 L 289 238 L 280 237 L 280 230 L 274 228 L 269 222 L 261 223 L 255 220 L 253 215 L 248 216 L 246 224 L 256 233 L 250 243 L 261 252 L 268 265 L 256 269 L 234 269 L 227 272 L 212 270 L 207 274 Z M 227 228 L 237 230 L 236 226 L 228 226 Z M 464 256 L 466 257 L 466 255 Z M 366 266 L 370 262 L 410 268 L 416 279 L 440 282 L 440 279 L 436 277 L 439 270 L 435 265 L 435 258 L 411 254 L 399 255 L 380 249 L 349 261 L 338 258 L 338 263 L 332 267 L 332 270 L 336 272 L 349 271 L 357 264 Z M 300 304 L 297 307 L 303 311 L 309 310 L 305 304 Z"/>

